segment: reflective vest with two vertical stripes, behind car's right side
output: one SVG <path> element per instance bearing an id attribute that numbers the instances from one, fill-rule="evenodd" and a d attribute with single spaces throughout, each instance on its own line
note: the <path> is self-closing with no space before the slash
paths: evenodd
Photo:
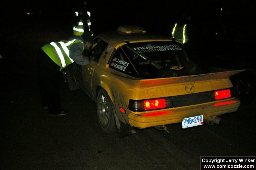
<path id="1" fill-rule="evenodd" d="M 189 41 L 187 35 L 187 24 L 184 26 L 177 26 L 177 23 L 175 23 L 171 33 L 173 38 L 179 40 L 183 44 Z"/>

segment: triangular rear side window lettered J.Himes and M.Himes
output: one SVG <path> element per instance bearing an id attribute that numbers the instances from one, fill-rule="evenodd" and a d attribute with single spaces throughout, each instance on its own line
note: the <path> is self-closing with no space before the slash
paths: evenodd
<path id="1" fill-rule="evenodd" d="M 139 78 L 138 74 L 133 68 L 133 65 L 130 63 L 120 47 L 117 49 L 117 51 L 115 51 L 113 57 L 111 58 L 109 67 L 130 76 Z"/>

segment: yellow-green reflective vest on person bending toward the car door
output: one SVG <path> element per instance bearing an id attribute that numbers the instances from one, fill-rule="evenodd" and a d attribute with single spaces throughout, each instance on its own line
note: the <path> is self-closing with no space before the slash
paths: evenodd
<path id="1" fill-rule="evenodd" d="M 42 47 L 42 50 L 58 65 L 61 69 L 67 67 L 73 63 L 74 60 L 69 57 L 69 49 L 75 43 L 82 43 L 82 41 L 73 40 L 61 40 L 60 42 L 51 42 Z M 83 45 L 84 49 L 84 45 Z M 61 70 L 60 69 L 60 70 Z"/>

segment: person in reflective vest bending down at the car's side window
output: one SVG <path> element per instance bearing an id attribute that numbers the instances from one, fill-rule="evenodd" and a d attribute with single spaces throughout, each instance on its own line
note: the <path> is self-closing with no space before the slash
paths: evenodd
<path id="1" fill-rule="evenodd" d="M 85 33 L 82 36 L 73 35 L 69 40 L 51 42 L 39 49 L 38 71 L 41 103 L 48 108 L 50 115 L 62 116 L 67 111 L 60 105 L 61 70 L 75 62 L 85 66 L 90 63 L 85 50 L 92 46 L 92 36 Z"/>

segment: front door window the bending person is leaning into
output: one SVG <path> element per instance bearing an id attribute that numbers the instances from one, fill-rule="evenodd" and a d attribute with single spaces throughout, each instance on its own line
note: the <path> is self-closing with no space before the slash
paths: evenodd
<path id="1" fill-rule="evenodd" d="M 94 60 L 98 62 L 98 60 L 101 57 L 101 54 L 103 51 L 106 49 L 108 46 L 108 43 L 101 39 L 94 39 L 94 44 L 92 45 L 92 49 L 86 53 L 87 56 L 89 57 L 94 57 Z"/>

